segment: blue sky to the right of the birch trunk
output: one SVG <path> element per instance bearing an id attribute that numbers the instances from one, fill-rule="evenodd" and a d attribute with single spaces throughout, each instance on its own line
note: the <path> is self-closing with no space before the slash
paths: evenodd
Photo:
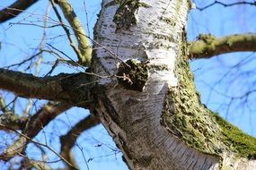
<path id="1" fill-rule="evenodd" d="M 197 2 L 201 7 L 214 1 Z M 222 2 L 230 4 L 238 1 Z M 189 39 L 195 39 L 199 33 L 211 33 L 216 37 L 253 33 L 256 25 L 252 17 L 255 14 L 255 6 L 250 5 L 224 7 L 216 4 L 203 12 L 193 10 L 188 24 Z M 196 85 L 201 92 L 202 101 L 244 132 L 256 136 L 253 131 L 256 128 L 253 123 L 255 94 L 252 93 L 248 98 L 234 100 L 227 98 L 242 96 L 254 88 L 254 58 L 255 54 L 252 52 L 219 55 L 211 59 L 192 61 L 191 68 L 195 71 Z M 212 90 L 213 87 L 215 88 Z"/>

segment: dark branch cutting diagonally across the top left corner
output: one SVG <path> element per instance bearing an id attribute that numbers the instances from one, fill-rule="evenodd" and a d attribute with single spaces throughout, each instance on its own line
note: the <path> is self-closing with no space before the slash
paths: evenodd
<path id="1" fill-rule="evenodd" d="M 17 0 L 15 3 L 0 11 L 0 23 L 14 18 L 37 1 L 38 0 Z"/>

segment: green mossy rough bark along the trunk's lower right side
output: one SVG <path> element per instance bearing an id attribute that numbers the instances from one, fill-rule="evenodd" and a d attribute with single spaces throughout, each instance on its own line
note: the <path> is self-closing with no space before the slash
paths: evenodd
<path id="1" fill-rule="evenodd" d="M 176 60 L 178 87 L 166 95 L 162 123 L 189 146 L 203 153 L 221 157 L 233 151 L 238 157 L 256 158 L 256 139 L 227 123 L 201 104 L 190 72 L 186 45 Z"/>

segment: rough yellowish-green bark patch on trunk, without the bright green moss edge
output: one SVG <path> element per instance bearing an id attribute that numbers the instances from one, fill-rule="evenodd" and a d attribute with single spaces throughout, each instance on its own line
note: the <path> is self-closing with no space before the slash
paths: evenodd
<path id="1" fill-rule="evenodd" d="M 192 148 L 219 155 L 223 145 L 217 135 L 220 129 L 207 108 L 200 104 L 186 55 L 177 59 L 175 73 L 179 85 L 170 88 L 165 98 L 163 124 Z"/>

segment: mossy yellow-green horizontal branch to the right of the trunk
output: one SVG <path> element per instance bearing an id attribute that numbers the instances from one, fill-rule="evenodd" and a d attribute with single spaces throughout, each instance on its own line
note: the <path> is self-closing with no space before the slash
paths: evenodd
<path id="1" fill-rule="evenodd" d="M 256 51 L 256 34 L 234 34 L 216 38 L 210 34 L 199 35 L 198 40 L 190 42 L 190 59 L 210 58 L 234 52 Z"/>

